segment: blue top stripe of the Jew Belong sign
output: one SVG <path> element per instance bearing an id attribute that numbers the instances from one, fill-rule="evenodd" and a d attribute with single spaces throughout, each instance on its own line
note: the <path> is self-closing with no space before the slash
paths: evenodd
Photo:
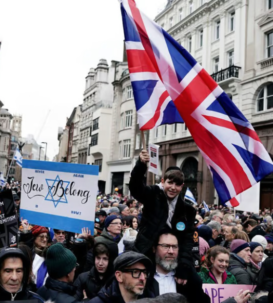
<path id="1" fill-rule="evenodd" d="M 98 169 L 99 169 L 98 165 L 38 161 L 38 160 L 26 160 L 26 159 L 23 159 L 22 168 L 41 170 L 41 171 L 91 174 L 91 175 L 98 175 Z"/>

